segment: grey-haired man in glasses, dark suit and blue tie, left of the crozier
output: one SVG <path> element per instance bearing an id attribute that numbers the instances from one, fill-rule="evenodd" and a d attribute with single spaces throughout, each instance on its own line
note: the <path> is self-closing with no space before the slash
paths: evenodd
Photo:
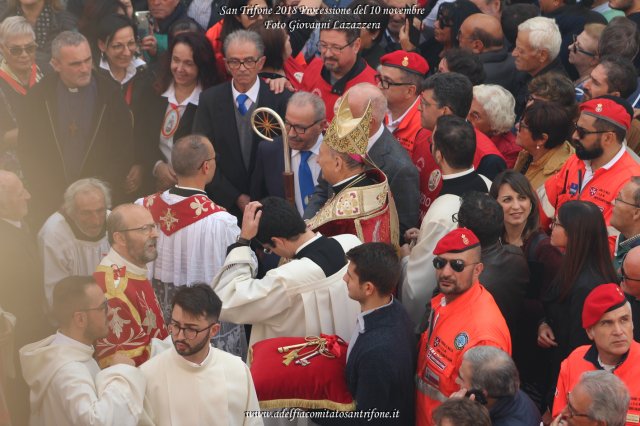
<path id="1" fill-rule="evenodd" d="M 251 174 L 260 138 L 251 127 L 256 108 L 269 107 L 284 115 L 289 92 L 274 94 L 258 78 L 265 62 L 264 44 L 252 31 L 236 31 L 224 42 L 230 82 L 211 87 L 200 95 L 194 133 L 209 138 L 218 156 L 218 168 L 207 185 L 209 198 L 239 220 L 249 203 Z"/>

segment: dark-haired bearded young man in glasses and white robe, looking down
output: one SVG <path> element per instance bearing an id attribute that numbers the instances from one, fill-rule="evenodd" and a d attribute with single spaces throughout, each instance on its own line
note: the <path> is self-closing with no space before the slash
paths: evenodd
<path id="1" fill-rule="evenodd" d="M 206 284 L 183 286 L 172 302 L 173 348 L 144 363 L 145 411 L 157 426 L 261 425 L 249 368 L 209 341 L 220 331 L 222 301 Z"/>

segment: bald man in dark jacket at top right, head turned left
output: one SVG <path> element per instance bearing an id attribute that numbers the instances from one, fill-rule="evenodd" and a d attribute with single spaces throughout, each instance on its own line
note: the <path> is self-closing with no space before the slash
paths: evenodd
<path id="1" fill-rule="evenodd" d="M 498 19 L 485 13 L 469 16 L 460 26 L 458 41 L 461 48 L 478 54 L 486 74 L 485 84 L 499 84 L 515 96 L 520 71 L 504 45 Z"/>

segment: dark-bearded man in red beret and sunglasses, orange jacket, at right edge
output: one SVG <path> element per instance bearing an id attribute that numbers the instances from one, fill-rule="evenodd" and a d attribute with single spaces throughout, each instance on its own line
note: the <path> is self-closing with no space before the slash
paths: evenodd
<path id="1" fill-rule="evenodd" d="M 591 201 L 600 208 L 609 226 L 611 203 L 631 176 L 640 174 L 640 165 L 625 149 L 632 115 L 631 107 L 614 96 L 580 105 L 572 141 L 576 153 L 538 194 L 548 219 L 555 217 L 560 206 L 569 200 Z M 617 231 L 613 234 L 611 247 Z"/>

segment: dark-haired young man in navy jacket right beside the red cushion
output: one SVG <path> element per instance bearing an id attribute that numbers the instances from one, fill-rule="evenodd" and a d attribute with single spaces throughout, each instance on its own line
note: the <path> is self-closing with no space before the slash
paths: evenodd
<path id="1" fill-rule="evenodd" d="M 365 243 L 349 250 L 347 259 L 347 290 L 361 310 L 345 369 L 356 410 L 399 414 L 373 424 L 414 424 L 414 402 L 407 396 L 414 391 L 416 339 L 407 312 L 392 296 L 400 277 L 396 251 L 388 244 Z"/>

